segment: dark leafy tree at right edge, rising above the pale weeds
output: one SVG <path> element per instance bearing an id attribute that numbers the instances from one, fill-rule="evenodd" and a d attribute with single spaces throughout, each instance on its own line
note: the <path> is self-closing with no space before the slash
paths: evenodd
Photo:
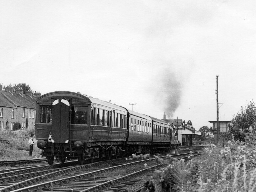
<path id="1" fill-rule="evenodd" d="M 228 125 L 229 132 L 233 134 L 234 140 L 245 141 L 246 133 L 249 128 L 256 130 L 256 107 L 254 101 L 250 101 L 245 109 L 241 108 L 241 112 L 234 114 L 231 123 Z"/>

